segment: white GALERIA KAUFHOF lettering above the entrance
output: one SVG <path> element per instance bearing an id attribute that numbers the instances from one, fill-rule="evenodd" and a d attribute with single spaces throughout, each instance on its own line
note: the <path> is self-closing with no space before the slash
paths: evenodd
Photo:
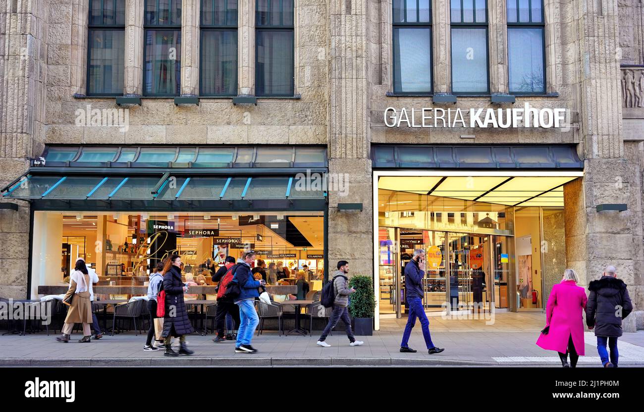
<path id="1" fill-rule="evenodd" d="M 529 104 L 523 108 L 507 109 L 396 109 L 384 110 L 387 127 L 470 127 L 516 129 L 519 127 L 565 127 L 563 108 L 535 109 Z M 466 116 L 469 115 L 469 116 Z M 467 120 L 466 120 L 467 119 Z"/>

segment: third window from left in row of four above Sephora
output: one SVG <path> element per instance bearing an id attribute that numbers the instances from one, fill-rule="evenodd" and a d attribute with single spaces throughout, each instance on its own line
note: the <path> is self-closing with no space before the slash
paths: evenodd
<path id="1" fill-rule="evenodd" d="M 237 0 L 201 0 L 200 95 L 237 95 Z"/>

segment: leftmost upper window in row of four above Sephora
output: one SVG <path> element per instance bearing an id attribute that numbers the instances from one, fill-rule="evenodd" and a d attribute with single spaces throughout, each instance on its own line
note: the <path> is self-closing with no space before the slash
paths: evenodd
<path id="1" fill-rule="evenodd" d="M 122 95 L 125 73 L 125 0 L 91 0 L 88 95 Z"/>

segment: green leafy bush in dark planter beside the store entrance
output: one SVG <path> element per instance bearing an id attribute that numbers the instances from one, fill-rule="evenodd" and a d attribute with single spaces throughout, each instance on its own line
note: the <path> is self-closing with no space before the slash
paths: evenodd
<path id="1" fill-rule="evenodd" d="M 349 314 L 354 319 L 355 335 L 374 333 L 375 296 L 374 285 L 370 276 L 356 275 L 349 279 L 349 286 L 355 289 L 350 296 Z"/>

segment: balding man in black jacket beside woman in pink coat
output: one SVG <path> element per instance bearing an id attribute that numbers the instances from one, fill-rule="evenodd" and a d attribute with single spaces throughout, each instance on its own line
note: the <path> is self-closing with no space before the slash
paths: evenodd
<path id="1" fill-rule="evenodd" d="M 617 338 L 621 336 L 621 320 L 633 310 L 626 284 L 617 279 L 614 266 L 608 266 L 601 279 L 588 285 L 591 291 L 586 304 L 586 324 L 595 330 L 597 351 L 604 368 L 616 368 L 618 362 Z M 609 362 L 606 343 L 611 349 Z"/>

